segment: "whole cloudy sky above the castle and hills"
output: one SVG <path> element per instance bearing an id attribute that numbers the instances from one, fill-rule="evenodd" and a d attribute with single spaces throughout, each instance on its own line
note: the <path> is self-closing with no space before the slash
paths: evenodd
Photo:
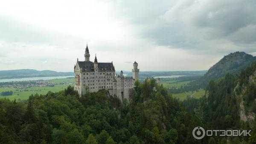
<path id="1" fill-rule="evenodd" d="M 0 70 L 207 70 L 231 52 L 256 55 L 256 0 L 5 0 Z"/>

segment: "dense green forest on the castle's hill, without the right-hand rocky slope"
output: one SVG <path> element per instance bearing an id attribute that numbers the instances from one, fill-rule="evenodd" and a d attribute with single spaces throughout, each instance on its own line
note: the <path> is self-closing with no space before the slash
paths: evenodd
<path id="1" fill-rule="evenodd" d="M 0 100 L 1 144 L 200 144 L 203 124 L 155 80 L 136 82 L 131 102 L 72 86 L 26 102 Z"/>

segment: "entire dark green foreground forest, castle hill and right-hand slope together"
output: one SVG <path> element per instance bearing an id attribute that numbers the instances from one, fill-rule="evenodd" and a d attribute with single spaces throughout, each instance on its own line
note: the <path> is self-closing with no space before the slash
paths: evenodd
<path id="1" fill-rule="evenodd" d="M 136 81 L 130 101 L 107 90 L 79 97 L 72 86 L 27 101 L 0 100 L 0 144 L 255 144 L 256 62 L 237 75 L 209 81 L 206 94 L 179 101 L 154 79 Z M 255 79 L 255 78 L 254 78 Z M 243 103 L 241 103 L 243 101 Z M 252 130 L 252 136 L 205 137 L 192 130 Z"/>

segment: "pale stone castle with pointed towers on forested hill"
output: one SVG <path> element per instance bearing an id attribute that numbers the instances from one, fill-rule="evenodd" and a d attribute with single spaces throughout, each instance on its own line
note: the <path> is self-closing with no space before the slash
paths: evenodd
<path id="1" fill-rule="evenodd" d="M 95 55 L 94 62 L 90 61 L 90 53 L 86 46 L 84 61 L 77 59 L 74 67 L 75 86 L 79 95 L 86 92 L 97 92 L 100 89 L 107 89 L 110 95 L 116 95 L 122 102 L 124 99 L 130 101 L 135 81 L 139 78 L 140 69 L 138 63 L 133 63 L 132 77 L 125 77 L 123 72 L 116 74 L 113 62 L 98 63 Z"/>

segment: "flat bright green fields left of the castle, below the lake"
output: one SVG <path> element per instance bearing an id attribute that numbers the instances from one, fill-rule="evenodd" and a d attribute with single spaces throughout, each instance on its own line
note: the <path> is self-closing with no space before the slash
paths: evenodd
<path id="1" fill-rule="evenodd" d="M 47 80 L 55 86 L 50 87 L 50 86 L 44 86 L 44 87 L 30 87 L 26 89 L 14 89 L 14 88 L 0 88 L 0 93 L 1 92 L 6 92 L 6 91 L 13 91 L 12 95 L 9 96 L 1 96 L 0 98 L 9 98 L 11 101 L 16 99 L 16 101 L 21 101 L 21 100 L 26 100 L 29 98 L 30 95 L 35 95 L 38 93 L 39 95 L 42 94 L 47 94 L 47 92 L 58 92 L 60 90 L 63 90 L 67 88 L 69 84 L 61 84 L 61 83 L 73 83 L 74 79 L 72 78 L 61 78 L 61 79 L 53 79 L 53 80 Z M 73 85 L 73 84 L 70 84 Z"/>

